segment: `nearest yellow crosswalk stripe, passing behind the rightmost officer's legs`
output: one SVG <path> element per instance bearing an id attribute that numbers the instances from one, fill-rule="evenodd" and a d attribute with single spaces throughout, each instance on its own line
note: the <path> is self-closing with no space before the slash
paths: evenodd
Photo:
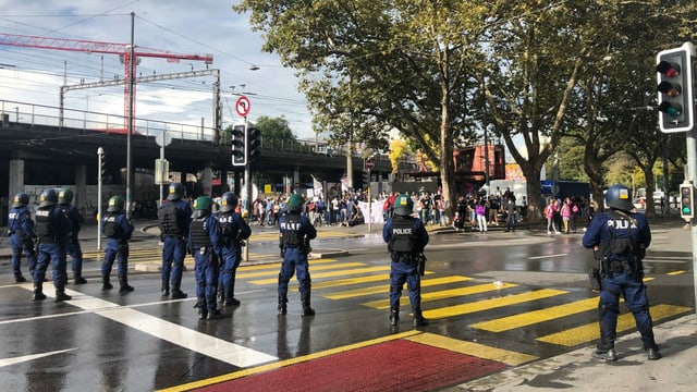
<path id="1" fill-rule="evenodd" d="M 651 306 L 649 310 L 651 313 L 651 319 L 653 319 L 653 321 L 659 321 L 669 317 L 674 317 L 686 314 L 688 311 L 693 311 L 693 309 L 688 307 L 665 304 Z M 634 315 L 623 314 L 617 317 L 617 333 L 626 332 L 635 328 L 636 322 L 634 320 Z M 537 341 L 573 347 L 598 339 L 600 339 L 600 329 L 598 328 L 597 322 L 592 322 L 585 326 L 571 328 L 564 331 L 550 333 L 548 335 L 537 338 Z"/>

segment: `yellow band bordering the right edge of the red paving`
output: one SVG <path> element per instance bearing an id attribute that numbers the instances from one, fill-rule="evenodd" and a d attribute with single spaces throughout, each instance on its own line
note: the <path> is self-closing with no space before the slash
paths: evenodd
<path id="1" fill-rule="evenodd" d="M 462 341 L 428 332 L 405 339 L 412 342 L 427 344 L 460 354 L 476 356 L 477 358 L 496 360 L 510 366 L 518 366 L 538 359 L 538 357 L 534 355 L 497 348 L 485 344 Z"/>

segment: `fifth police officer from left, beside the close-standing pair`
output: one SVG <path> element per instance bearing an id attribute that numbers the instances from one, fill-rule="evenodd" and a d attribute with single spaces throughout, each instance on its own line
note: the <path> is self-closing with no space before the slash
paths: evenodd
<path id="1" fill-rule="evenodd" d="M 186 235 L 194 212 L 188 201 L 184 200 L 184 185 L 172 183 L 169 186 L 167 203 L 158 210 L 158 222 L 162 235 L 162 295 L 172 298 L 186 298 L 182 292 L 182 273 L 184 272 L 184 257 L 186 257 Z"/>

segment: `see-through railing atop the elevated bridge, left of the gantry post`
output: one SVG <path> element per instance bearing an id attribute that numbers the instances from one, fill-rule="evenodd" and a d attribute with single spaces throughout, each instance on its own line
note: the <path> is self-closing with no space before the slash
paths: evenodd
<path id="1" fill-rule="evenodd" d="M 114 134 L 125 134 L 127 128 L 127 121 L 123 115 L 68 108 L 63 108 L 61 112 L 58 107 L 4 99 L 0 100 L 0 121 L 3 124 L 11 122 Z M 211 142 L 215 137 L 215 128 L 211 126 L 135 118 L 135 134 L 157 136 L 164 131 L 174 139 Z"/>

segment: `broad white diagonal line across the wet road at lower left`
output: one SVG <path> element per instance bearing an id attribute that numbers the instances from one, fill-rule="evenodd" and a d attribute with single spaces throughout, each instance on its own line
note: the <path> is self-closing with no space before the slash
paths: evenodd
<path id="1" fill-rule="evenodd" d="M 33 290 L 30 285 L 25 285 L 24 287 Z M 45 293 L 53 291 L 51 284 L 44 283 L 44 287 Z M 278 360 L 278 357 L 272 355 L 213 338 L 108 301 L 95 298 L 72 290 L 65 290 L 65 294 L 73 296 L 73 299 L 66 302 L 70 305 L 230 365 L 249 367 Z"/>

